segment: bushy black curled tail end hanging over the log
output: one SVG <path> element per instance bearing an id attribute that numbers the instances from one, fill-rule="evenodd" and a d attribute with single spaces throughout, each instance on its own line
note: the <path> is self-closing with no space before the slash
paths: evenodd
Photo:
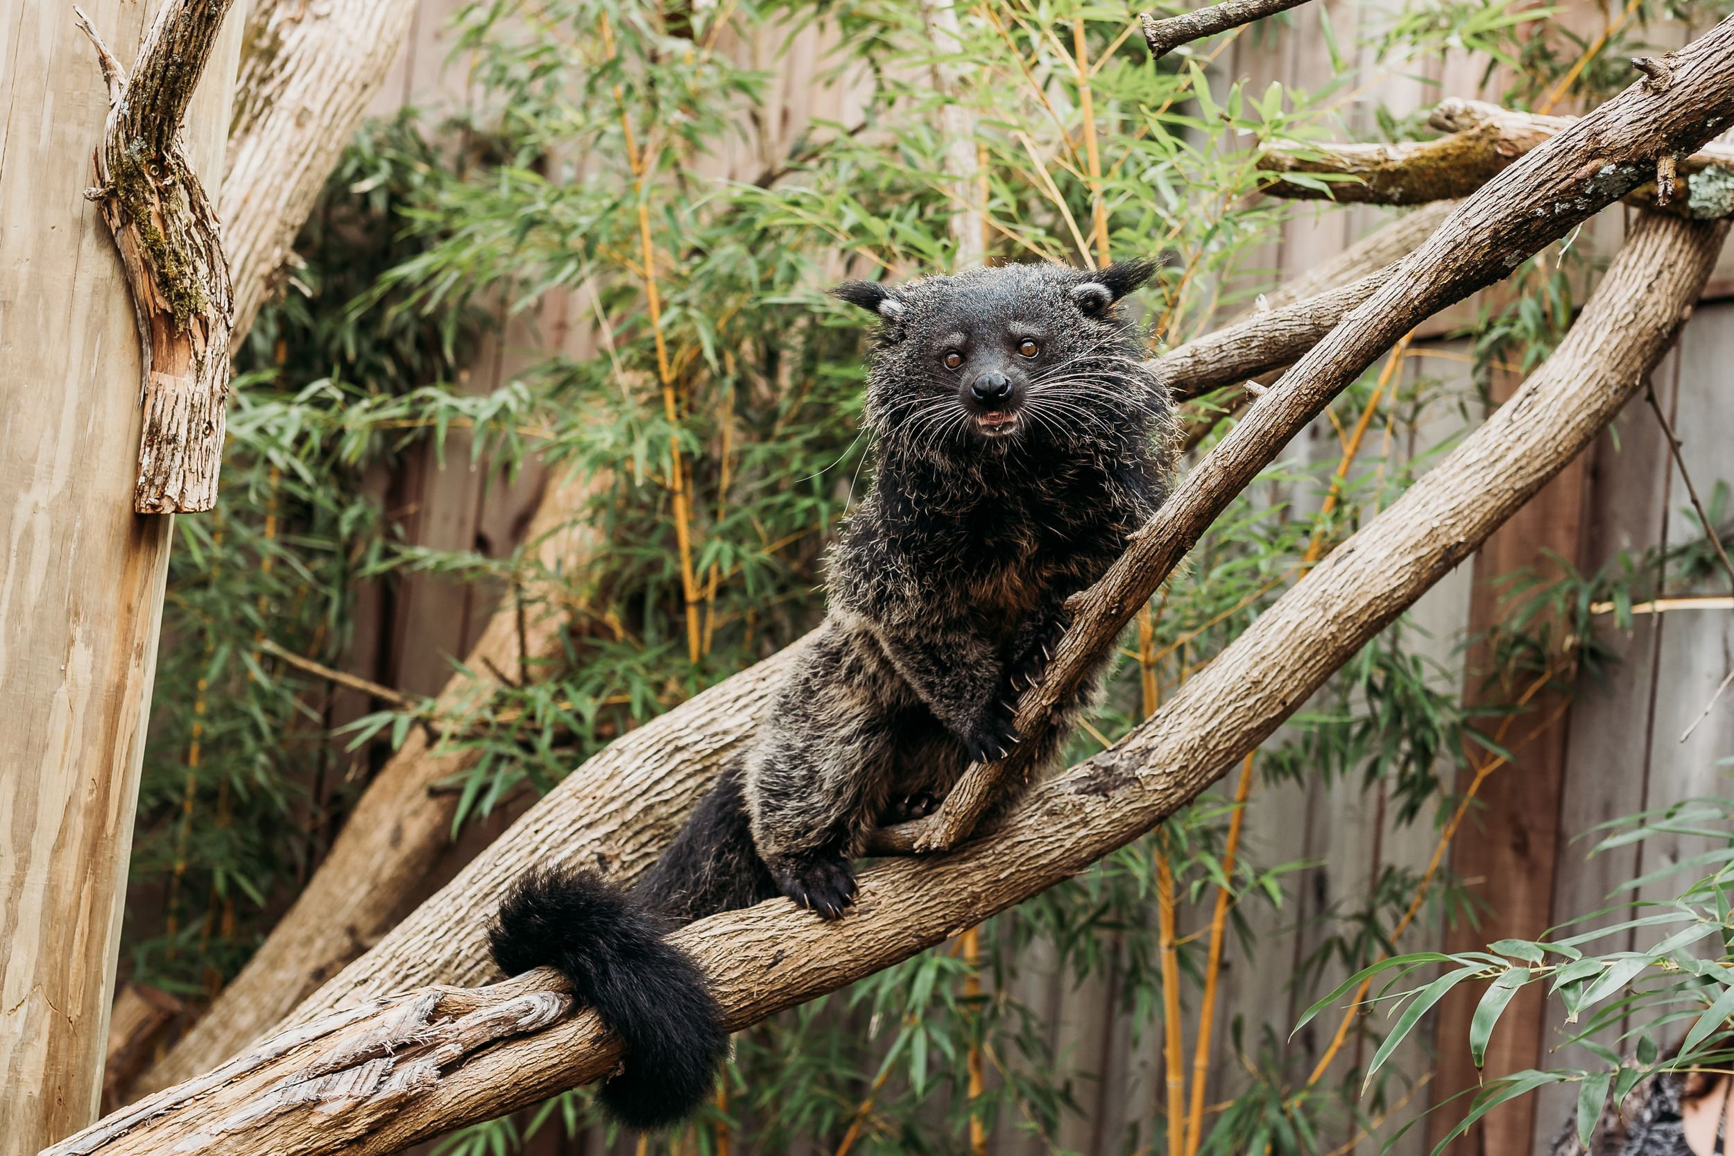
<path id="1" fill-rule="evenodd" d="M 728 1050 L 716 1000 L 697 965 L 662 939 L 662 925 L 591 872 L 525 872 L 487 929 L 508 976 L 553 967 L 574 997 L 626 1043 L 602 1104 L 633 1128 L 690 1116 L 716 1087 Z"/>

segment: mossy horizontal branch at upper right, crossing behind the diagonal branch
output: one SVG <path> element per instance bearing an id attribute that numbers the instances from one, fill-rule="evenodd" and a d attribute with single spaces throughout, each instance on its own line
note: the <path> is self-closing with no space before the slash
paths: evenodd
<path id="1" fill-rule="evenodd" d="M 1649 90 L 1649 81 L 1644 81 Z M 1259 158 L 1259 168 L 1278 175 L 1264 192 L 1292 199 L 1422 205 L 1469 196 L 1543 140 L 1574 123 L 1571 116 L 1514 113 L 1483 101 L 1441 101 L 1429 125 L 1448 135 L 1398 144 L 1307 144 Z M 1654 158 L 1654 180 L 1625 194 L 1628 205 L 1665 208 L 1682 217 L 1711 220 L 1734 213 L 1734 147 L 1710 144 L 1680 159 Z M 1323 187 L 1281 175 L 1330 177 Z M 1675 198 L 1684 177 L 1687 196 Z"/>

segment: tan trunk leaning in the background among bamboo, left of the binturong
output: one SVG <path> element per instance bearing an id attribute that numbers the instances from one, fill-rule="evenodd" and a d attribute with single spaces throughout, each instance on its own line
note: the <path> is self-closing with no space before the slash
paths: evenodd
<path id="1" fill-rule="evenodd" d="M 581 520 L 593 482 L 548 482 L 525 536 L 539 574 L 569 574 L 593 555 L 596 534 Z M 560 653 L 565 605 L 551 586 L 529 581 L 518 596 L 501 601 L 465 659 L 466 669 L 454 672 L 435 698 L 440 714 L 461 716 L 498 692 L 501 671 L 539 671 Z M 458 796 L 432 787 L 461 775 L 479 756 L 473 747 L 444 745 L 423 728 L 411 730 L 368 783 L 295 905 L 192 1029 L 135 1081 L 134 1094 L 180 1083 L 234 1055 L 373 946 L 404 906 L 404 894 L 451 844 Z"/>

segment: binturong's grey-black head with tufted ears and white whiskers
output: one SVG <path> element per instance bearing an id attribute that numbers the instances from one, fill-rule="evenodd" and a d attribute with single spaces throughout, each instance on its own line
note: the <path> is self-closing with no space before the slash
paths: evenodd
<path id="1" fill-rule="evenodd" d="M 838 286 L 883 322 L 867 386 L 881 449 L 955 459 L 1148 432 L 1167 399 L 1117 305 L 1155 269 L 999 265 Z"/>

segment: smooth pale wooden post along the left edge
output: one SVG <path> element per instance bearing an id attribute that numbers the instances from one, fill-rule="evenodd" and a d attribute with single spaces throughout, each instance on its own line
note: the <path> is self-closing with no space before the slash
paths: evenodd
<path id="1" fill-rule="evenodd" d="M 95 0 L 134 54 L 146 5 Z M 85 199 L 109 101 L 69 5 L 9 19 L 0 71 L 0 1151 L 97 1111 L 120 898 L 144 756 L 172 518 L 132 511 L 139 333 L 114 241 Z M 205 185 L 239 21 L 186 118 Z"/>

